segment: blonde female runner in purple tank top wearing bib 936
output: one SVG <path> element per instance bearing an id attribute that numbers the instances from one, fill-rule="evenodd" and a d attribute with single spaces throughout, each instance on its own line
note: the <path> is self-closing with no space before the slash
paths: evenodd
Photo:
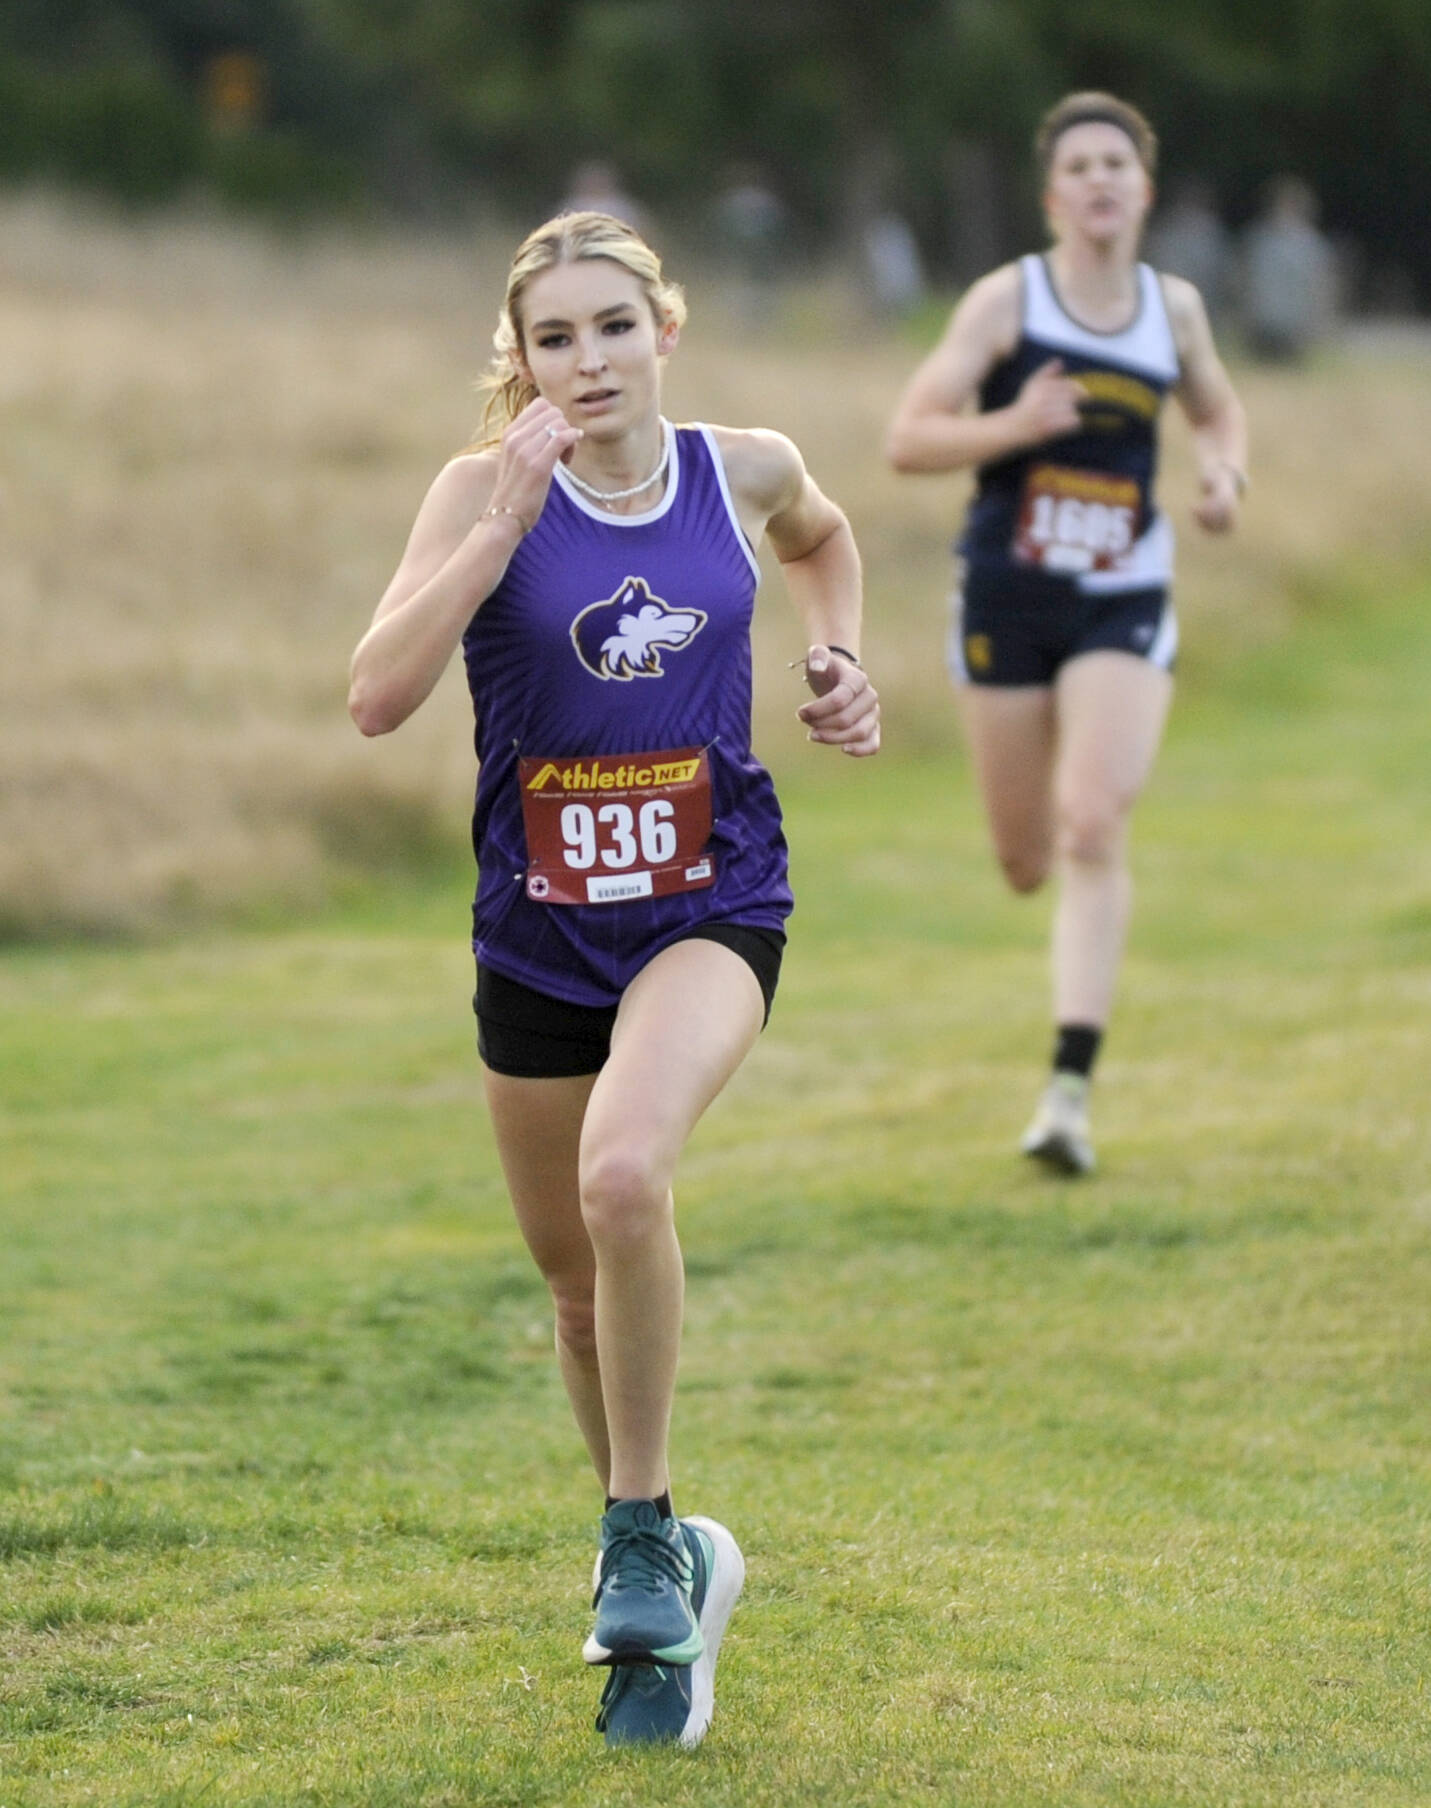
<path id="1" fill-rule="evenodd" d="M 521 1233 L 606 1490 L 588 1663 L 610 1743 L 704 1736 L 744 1560 L 671 1508 L 671 1181 L 769 1012 L 791 909 L 751 754 L 754 546 L 805 618 L 812 741 L 879 747 L 848 523 L 789 439 L 660 416 L 680 289 L 624 222 L 519 248 L 490 438 L 452 459 L 353 656 L 364 734 L 461 645 L 478 732 L 478 1047 Z"/>

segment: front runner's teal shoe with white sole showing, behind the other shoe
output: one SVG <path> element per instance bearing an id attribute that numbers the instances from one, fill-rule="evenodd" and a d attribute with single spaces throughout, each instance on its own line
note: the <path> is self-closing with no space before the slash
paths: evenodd
<path id="1" fill-rule="evenodd" d="M 745 1584 L 745 1558 L 715 1519 L 684 1519 L 680 1530 L 691 1553 L 691 1606 L 704 1651 L 695 1663 L 615 1663 L 597 1710 L 597 1732 L 608 1745 L 675 1743 L 693 1750 L 711 1727 L 716 1658 Z"/>

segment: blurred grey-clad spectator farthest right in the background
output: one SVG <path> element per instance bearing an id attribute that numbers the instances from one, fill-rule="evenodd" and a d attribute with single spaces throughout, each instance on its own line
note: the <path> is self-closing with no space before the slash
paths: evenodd
<path id="1" fill-rule="evenodd" d="M 1243 235 L 1243 313 L 1248 347 L 1283 363 L 1331 333 L 1335 255 L 1317 230 L 1317 197 L 1295 175 L 1268 184 L 1263 212 Z"/>

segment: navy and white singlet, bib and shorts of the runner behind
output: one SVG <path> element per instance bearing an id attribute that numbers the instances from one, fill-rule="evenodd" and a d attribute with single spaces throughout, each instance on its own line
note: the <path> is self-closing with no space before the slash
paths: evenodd
<path id="1" fill-rule="evenodd" d="M 1100 645 L 1170 665 L 1172 524 L 1154 481 L 1158 416 L 1181 369 L 1161 284 L 1138 264 L 1132 320 L 1100 333 L 1064 309 L 1044 257 L 1022 257 L 1019 273 L 1019 340 L 981 385 L 981 412 L 1009 407 L 1053 358 L 1087 400 L 1075 432 L 979 468 L 952 665 L 973 682 L 1046 683 Z"/>

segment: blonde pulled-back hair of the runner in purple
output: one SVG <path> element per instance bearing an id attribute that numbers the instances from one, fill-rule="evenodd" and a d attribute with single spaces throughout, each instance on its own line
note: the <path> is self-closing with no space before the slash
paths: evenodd
<path id="1" fill-rule="evenodd" d="M 684 325 L 686 295 L 678 282 L 662 277 L 660 259 L 635 228 L 613 213 L 557 213 L 523 239 L 507 273 L 507 297 L 492 334 L 492 363 L 478 383 L 478 392 L 485 394 L 487 401 L 472 450 L 496 445 L 503 428 L 535 400 L 537 385 L 526 372 L 521 320 L 521 302 L 532 278 L 557 264 L 577 264 L 595 257 L 631 271 L 646 291 L 657 327 L 669 322 Z"/>

